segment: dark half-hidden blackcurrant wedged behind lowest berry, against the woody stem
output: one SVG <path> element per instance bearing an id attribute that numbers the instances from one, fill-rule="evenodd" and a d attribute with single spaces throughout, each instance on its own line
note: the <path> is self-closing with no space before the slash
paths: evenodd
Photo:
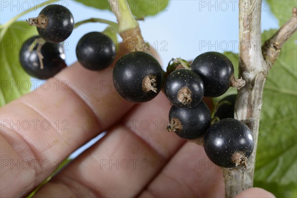
<path id="1" fill-rule="evenodd" d="M 234 118 L 234 106 L 235 106 L 235 100 L 236 100 L 237 94 L 226 96 L 225 98 L 221 99 L 220 102 L 227 101 L 228 103 L 221 104 L 214 116 L 218 117 L 220 120 L 225 118 Z"/>

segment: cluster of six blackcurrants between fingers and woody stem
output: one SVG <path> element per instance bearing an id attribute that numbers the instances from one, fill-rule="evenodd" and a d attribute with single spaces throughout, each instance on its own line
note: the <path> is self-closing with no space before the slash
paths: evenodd
<path id="1" fill-rule="evenodd" d="M 233 73 L 233 65 L 224 54 L 206 52 L 194 59 L 190 69 L 174 70 L 163 83 L 164 72 L 158 61 L 146 52 L 135 51 L 116 62 L 113 82 L 119 95 L 131 102 L 153 99 L 164 84 L 173 104 L 167 130 L 187 140 L 202 139 L 209 159 L 221 167 L 247 167 L 254 143 L 249 128 L 234 119 L 237 96 L 219 101 L 214 115 L 221 120 L 212 125 L 210 110 L 202 101 L 203 96 L 224 94 Z"/>

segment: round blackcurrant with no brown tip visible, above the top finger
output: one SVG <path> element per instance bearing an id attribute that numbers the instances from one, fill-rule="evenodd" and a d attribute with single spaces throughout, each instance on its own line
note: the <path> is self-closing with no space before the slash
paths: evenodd
<path id="1" fill-rule="evenodd" d="M 108 67 L 115 56 L 115 45 L 112 40 L 100 33 L 85 34 L 76 46 L 78 61 L 89 70 L 98 71 Z"/>

